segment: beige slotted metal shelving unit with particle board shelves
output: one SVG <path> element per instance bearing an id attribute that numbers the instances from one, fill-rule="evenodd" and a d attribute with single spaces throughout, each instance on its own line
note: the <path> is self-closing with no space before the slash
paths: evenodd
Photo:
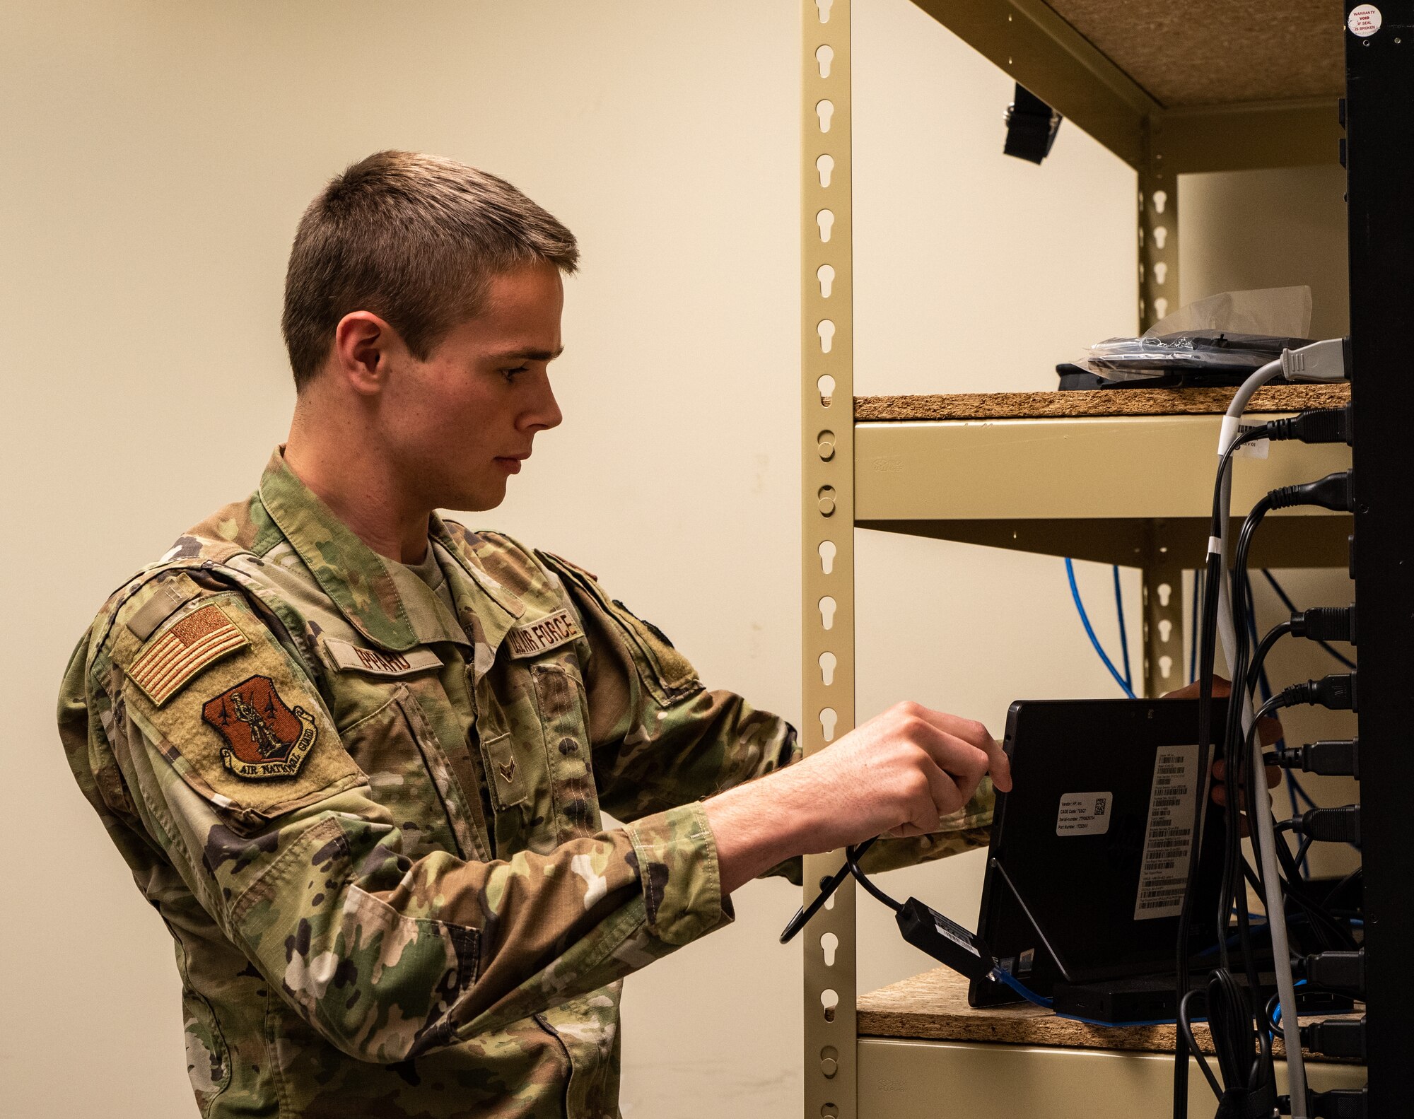
<path id="1" fill-rule="evenodd" d="M 1240 11 L 1220 0 L 915 3 L 1135 170 L 1141 325 L 1176 305 L 1178 175 L 1338 158 L 1343 28 L 1339 10 L 1325 3 L 1254 0 Z M 855 527 L 1143 568 L 1144 680 L 1157 694 L 1176 680 L 1182 660 L 1182 557 L 1199 555 L 1206 538 L 1219 420 L 1025 410 L 998 418 L 988 408 L 936 418 L 928 398 L 911 407 L 896 397 L 885 401 L 888 418 L 864 418 L 878 401 L 860 401 L 855 418 L 850 14 L 850 0 L 802 0 L 806 752 L 854 726 Z M 1343 449 L 1304 446 L 1247 461 L 1233 507 L 1346 465 Z M 1273 519 L 1254 561 L 1343 565 L 1348 519 L 1302 520 L 1305 530 L 1292 531 L 1294 517 Z M 806 900 L 839 865 L 839 855 L 806 859 Z M 940 1050 L 901 1057 L 901 1043 L 857 1044 L 851 887 L 805 931 L 807 1119 L 891 1113 L 888 1105 L 902 1103 L 888 1095 L 899 1060 L 933 1082 L 947 1064 L 937 1064 Z M 878 1054 L 870 1048 L 880 1046 Z M 967 1060 L 995 1075 L 997 1055 Z M 894 1064 L 861 1081 L 860 1062 L 875 1057 Z M 1045 1075 L 1097 1075 L 1093 1062 L 1062 1065 L 1052 1060 Z"/>

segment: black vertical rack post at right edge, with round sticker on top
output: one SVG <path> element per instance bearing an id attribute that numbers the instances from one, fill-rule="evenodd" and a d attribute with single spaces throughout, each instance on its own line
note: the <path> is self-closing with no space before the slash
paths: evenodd
<path id="1" fill-rule="evenodd" d="M 1349 16 L 1355 4 L 1346 3 Z M 1370 1115 L 1404 1115 L 1414 1053 L 1414 0 L 1346 32 L 1355 584 Z"/>

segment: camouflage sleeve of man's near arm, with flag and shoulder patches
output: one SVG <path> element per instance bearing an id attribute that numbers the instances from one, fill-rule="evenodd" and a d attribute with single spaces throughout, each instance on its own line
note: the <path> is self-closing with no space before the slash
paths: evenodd
<path id="1" fill-rule="evenodd" d="M 71 754 L 116 760 L 112 788 L 86 791 L 130 808 L 225 935 L 349 1055 L 395 1062 L 496 1029 L 730 920 L 696 804 L 544 853 L 409 859 L 303 665 L 242 595 L 202 595 L 143 640 L 130 608 L 75 658 L 61 699 Z"/>

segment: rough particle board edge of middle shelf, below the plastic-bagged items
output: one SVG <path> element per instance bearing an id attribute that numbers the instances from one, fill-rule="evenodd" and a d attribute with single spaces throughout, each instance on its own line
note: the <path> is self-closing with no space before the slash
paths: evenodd
<path id="1" fill-rule="evenodd" d="M 1097 415 L 1212 415 L 1227 411 L 1236 389 L 1097 389 L 1051 393 L 953 393 L 855 397 L 854 420 L 1056 420 Z M 1274 384 L 1258 389 L 1247 411 L 1339 408 L 1349 384 Z"/>

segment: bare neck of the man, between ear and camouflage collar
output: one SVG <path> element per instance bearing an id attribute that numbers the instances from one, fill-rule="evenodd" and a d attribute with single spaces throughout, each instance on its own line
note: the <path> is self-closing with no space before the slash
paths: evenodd
<path id="1" fill-rule="evenodd" d="M 351 449 L 356 445 L 312 432 L 296 413 L 284 461 L 368 547 L 402 564 L 420 562 L 427 557 L 431 510 L 400 493 L 386 463 Z"/>

